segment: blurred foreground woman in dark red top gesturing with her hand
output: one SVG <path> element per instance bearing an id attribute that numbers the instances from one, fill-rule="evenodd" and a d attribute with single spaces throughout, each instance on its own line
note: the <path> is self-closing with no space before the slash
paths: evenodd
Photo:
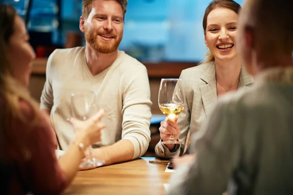
<path id="1" fill-rule="evenodd" d="M 57 195 L 78 171 L 84 149 L 100 141 L 104 111 L 84 122 L 71 118 L 77 133 L 57 161 L 54 131 L 27 90 L 35 58 L 28 39 L 14 8 L 0 4 L 0 189 Z"/>

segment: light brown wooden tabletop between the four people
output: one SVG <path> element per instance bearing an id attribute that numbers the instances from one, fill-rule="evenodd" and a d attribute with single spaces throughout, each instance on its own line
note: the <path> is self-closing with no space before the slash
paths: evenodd
<path id="1" fill-rule="evenodd" d="M 120 164 L 79 171 L 65 195 L 165 195 L 170 173 L 166 165 L 144 157 Z"/>

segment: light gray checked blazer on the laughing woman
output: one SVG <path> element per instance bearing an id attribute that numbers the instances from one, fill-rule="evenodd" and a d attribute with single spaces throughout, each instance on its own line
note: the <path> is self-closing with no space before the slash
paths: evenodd
<path id="1" fill-rule="evenodd" d="M 181 72 L 180 78 L 182 79 L 181 90 L 185 94 L 185 107 L 177 123 L 181 130 L 179 140 L 185 143 L 189 125 L 191 135 L 197 132 L 217 101 L 215 62 L 185 69 Z M 242 67 L 239 88 L 246 88 L 253 82 L 253 77 L 248 75 Z M 175 150 L 170 152 L 161 141 L 155 147 L 157 156 L 170 158 L 181 155 L 184 151 L 185 144 L 177 145 Z"/>

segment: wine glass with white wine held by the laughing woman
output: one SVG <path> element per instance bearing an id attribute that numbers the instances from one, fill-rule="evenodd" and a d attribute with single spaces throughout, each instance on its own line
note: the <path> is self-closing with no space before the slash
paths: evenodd
<path id="1" fill-rule="evenodd" d="M 180 89 L 180 78 L 162 78 L 159 90 L 160 110 L 169 118 L 174 119 L 184 109 L 184 98 Z M 182 141 L 175 140 L 173 134 L 164 144 L 180 144 Z"/>

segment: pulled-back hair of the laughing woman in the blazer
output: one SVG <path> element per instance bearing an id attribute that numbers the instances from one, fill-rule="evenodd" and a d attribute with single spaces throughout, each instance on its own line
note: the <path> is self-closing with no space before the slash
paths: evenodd
<path id="1" fill-rule="evenodd" d="M 213 1 L 211 1 L 205 11 L 205 15 L 204 15 L 204 19 L 203 19 L 203 28 L 204 28 L 205 33 L 207 30 L 207 20 L 208 20 L 209 13 L 216 8 L 228 8 L 228 9 L 234 11 L 236 14 L 239 14 L 241 6 L 233 0 L 213 0 Z M 212 55 L 212 53 L 209 51 L 208 48 L 207 48 L 207 50 L 208 50 L 207 54 L 206 54 L 207 58 L 204 59 L 201 63 L 207 63 L 207 62 L 215 60 L 215 57 Z"/>

